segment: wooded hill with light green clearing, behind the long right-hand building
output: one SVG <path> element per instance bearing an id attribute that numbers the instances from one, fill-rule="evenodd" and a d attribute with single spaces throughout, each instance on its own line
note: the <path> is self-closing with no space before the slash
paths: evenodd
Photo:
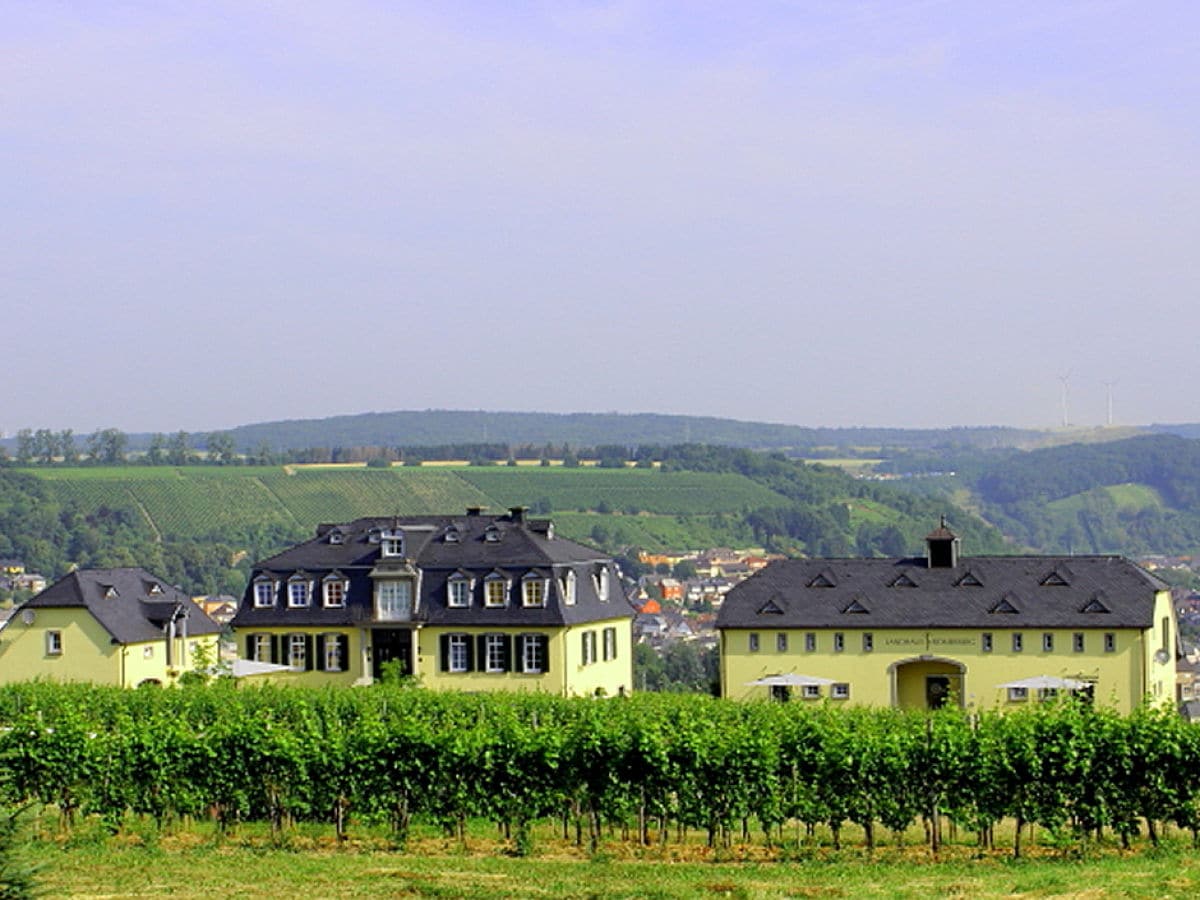
<path id="1" fill-rule="evenodd" d="M 966 479 L 984 516 L 1045 552 L 1200 551 L 1200 442 L 1154 434 L 1006 454 Z"/>

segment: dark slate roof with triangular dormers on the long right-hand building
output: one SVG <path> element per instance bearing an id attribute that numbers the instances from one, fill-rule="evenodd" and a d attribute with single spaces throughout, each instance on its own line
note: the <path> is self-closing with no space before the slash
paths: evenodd
<path id="1" fill-rule="evenodd" d="M 725 596 L 718 628 L 1150 628 L 1168 586 L 1122 557 L 785 559 Z"/>

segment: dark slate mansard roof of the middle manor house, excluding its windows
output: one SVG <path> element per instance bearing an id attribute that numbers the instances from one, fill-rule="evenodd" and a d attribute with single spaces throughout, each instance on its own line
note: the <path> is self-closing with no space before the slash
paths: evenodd
<path id="1" fill-rule="evenodd" d="M 382 557 L 382 547 L 371 540 L 374 530 L 398 529 L 404 536 L 403 556 Z M 330 541 L 330 535 L 336 539 Z M 448 534 L 452 539 L 448 539 Z M 488 535 L 493 539 L 490 540 Z M 582 544 L 557 538 L 548 520 L 523 515 L 503 516 L 380 516 L 359 518 L 343 524 L 323 524 L 317 536 L 256 564 L 234 628 L 284 625 L 366 625 L 373 622 L 372 571 L 377 566 L 404 565 L 420 571 L 416 613 L 413 622 L 437 625 L 528 626 L 570 625 L 622 616 L 632 618 L 634 608 L 625 599 L 612 559 Z M 596 575 L 608 571 L 608 600 L 601 601 Z M 281 595 L 276 606 L 256 608 L 253 583 L 260 575 L 282 582 L 302 571 L 318 583 L 331 571 L 344 575 L 350 588 L 344 607 L 324 608 L 320 598 L 304 608 L 288 608 Z M 576 602 L 566 605 L 560 576 L 576 574 Z M 511 580 L 510 601 L 505 607 L 485 607 L 479 598 L 479 582 L 491 572 Z M 472 605 L 446 606 L 449 580 L 467 574 L 476 580 Z M 521 580 L 524 576 L 550 578 L 544 607 L 521 605 Z M 401 623 L 397 623 L 401 624 Z"/>

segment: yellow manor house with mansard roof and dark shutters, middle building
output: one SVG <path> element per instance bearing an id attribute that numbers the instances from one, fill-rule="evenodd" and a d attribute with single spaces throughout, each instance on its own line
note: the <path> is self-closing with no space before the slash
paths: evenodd
<path id="1" fill-rule="evenodd" d="M 632 617 L 608 556 L 516 506 L 320 526 L 254 565 L 232 624 L 302 683 L 612 696 L 634 686 Z"/>

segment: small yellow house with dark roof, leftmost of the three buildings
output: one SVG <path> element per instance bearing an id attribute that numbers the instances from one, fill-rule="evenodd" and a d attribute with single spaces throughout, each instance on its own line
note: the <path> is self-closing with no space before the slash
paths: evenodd
<path id="1" fill-rule="evenodd" d="M 216 661 L 218 631 L 190 596 L 144 569 L 80 569 L 0 629 L 0 682 L 173 684 Z"/>

